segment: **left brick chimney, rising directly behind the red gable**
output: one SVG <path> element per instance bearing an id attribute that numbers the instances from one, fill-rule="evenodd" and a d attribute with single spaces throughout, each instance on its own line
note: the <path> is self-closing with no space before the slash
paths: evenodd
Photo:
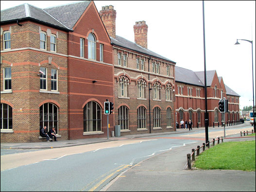
<path id="1" fill-rule="evenodd" d="M 116 38 L 116 15 L 117 12 L 114 10 L 113 5 L 103 6 L 102 10 L 100 11 L 100 16 L 108 35 L 113 38 Z"/>

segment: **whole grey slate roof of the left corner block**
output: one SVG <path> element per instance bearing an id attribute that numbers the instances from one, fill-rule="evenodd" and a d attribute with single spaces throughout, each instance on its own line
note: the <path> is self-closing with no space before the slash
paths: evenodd
<path id="1" fill-rule="evenodd" d="M 85 12 L 91 0 L 69 3 L 40 9 L 30 4 L 22 4 L 1 11 L 1 24 L 17 19 L 32 19 L 64 30 L 72 31 L 73 26 Z"/>

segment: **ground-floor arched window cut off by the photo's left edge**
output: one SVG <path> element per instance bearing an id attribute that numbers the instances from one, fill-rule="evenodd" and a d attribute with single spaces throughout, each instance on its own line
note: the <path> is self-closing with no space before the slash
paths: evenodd
<path id="1" fill-rule="evenodd" d="M 13 128 L 13 108 L 5 103 L 1 103 L 1 130 Z"/>

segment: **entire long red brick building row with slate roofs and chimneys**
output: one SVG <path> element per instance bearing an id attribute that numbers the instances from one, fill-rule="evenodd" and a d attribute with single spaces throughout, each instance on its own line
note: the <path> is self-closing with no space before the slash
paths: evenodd
<path id="1" fill-rule="evenodd" d="M 98 13 L 91 0 L 2 10 L 1 142 L 44 141 L 43 126 L 59 140 L 106 137 L 106 99 L 114 103 L 109 133 L 116 125 L 121 135 L 175 131 L 181 117 L 203 127 L 203 72 L 149 50 L 147 32 L 137 21 L 135 43 L 116 35 L 114 6 Z M 226 120 L 237 120 L 239 95 L 207 71 L 209 126 L 221 122 L 222 97 Z"/>

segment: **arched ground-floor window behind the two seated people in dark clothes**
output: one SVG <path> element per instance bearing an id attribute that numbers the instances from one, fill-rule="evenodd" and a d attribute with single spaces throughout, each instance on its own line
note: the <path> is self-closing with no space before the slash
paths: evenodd
<path id="1" fill-rule="evenodd" d="M 40 129 L 44 126 L 47 127 L 47 131 L 51 128 L 55 128 L 58 134 L 58 107 L 53 103 L 45 103 L 40 106 Z"/>

